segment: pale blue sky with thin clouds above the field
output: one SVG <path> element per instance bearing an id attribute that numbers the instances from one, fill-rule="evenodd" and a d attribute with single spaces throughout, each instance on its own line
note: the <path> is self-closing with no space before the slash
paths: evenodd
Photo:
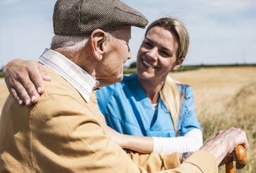
<path id="1" fill-rule="evenodd" d="M 187 27 L 191 44 L 184 64 L 256 63 L 255 0 L 123 0 L 149 22 L 175 17 Z M 53 0 L 0 0 L 0 68 L 15 58 L 37 59 L 53 36 Z M 133 28 L 136 61 L 144 30 Z"/>

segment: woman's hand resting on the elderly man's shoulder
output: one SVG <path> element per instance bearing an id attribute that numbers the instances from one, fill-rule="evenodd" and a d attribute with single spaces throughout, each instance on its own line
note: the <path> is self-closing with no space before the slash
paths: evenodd
<path id="1" fill-rule="evenodd" d="M 13 59 L 3 73 L 8 90 L 20 105 L 37 103 L 44 91 L 43 80 L 50 81 L 46 70 L 36 61 Z"/>

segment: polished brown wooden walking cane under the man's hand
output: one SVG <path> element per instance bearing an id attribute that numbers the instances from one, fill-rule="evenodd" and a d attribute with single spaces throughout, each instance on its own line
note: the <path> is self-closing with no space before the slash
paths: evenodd
<path id="1" fill-rule="evenodd" d="M 246 151 L 242 145 L 236 146 L 236 169 L 242 169 L 247 163 Z M 234 173 L 234 165 L 232 157 L 225 157 L 226 173 Z"/>

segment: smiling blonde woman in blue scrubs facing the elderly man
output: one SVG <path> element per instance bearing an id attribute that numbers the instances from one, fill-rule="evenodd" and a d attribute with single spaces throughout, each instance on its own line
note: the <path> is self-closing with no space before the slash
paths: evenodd
<path id="1" fill-rule="evenodd" d="M 121 146 L 169 153 L 195 151 L 202 145 L 193 93 L 169 75 L 180 67 L 188 48 L 189 34 L 182 23 L 171 18 L 156 20 L 147 28 L 137 54 L 137 74 L 97 92 L 109 126 L 119 133 L 147 136 L 142 137 L 143 144 L 136 137 L 128 137 L 129 144 L 116 140 Z"/>

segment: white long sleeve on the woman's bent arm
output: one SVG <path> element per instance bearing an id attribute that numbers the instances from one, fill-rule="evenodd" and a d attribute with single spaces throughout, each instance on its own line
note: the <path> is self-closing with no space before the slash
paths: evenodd
<path id="1" fill-rule="evenodd" d="M 203 145 L 203 134 L 198 128 L 180 137 L 153 137 L 153 152 L 173 153 L 196 151 Z"/>

